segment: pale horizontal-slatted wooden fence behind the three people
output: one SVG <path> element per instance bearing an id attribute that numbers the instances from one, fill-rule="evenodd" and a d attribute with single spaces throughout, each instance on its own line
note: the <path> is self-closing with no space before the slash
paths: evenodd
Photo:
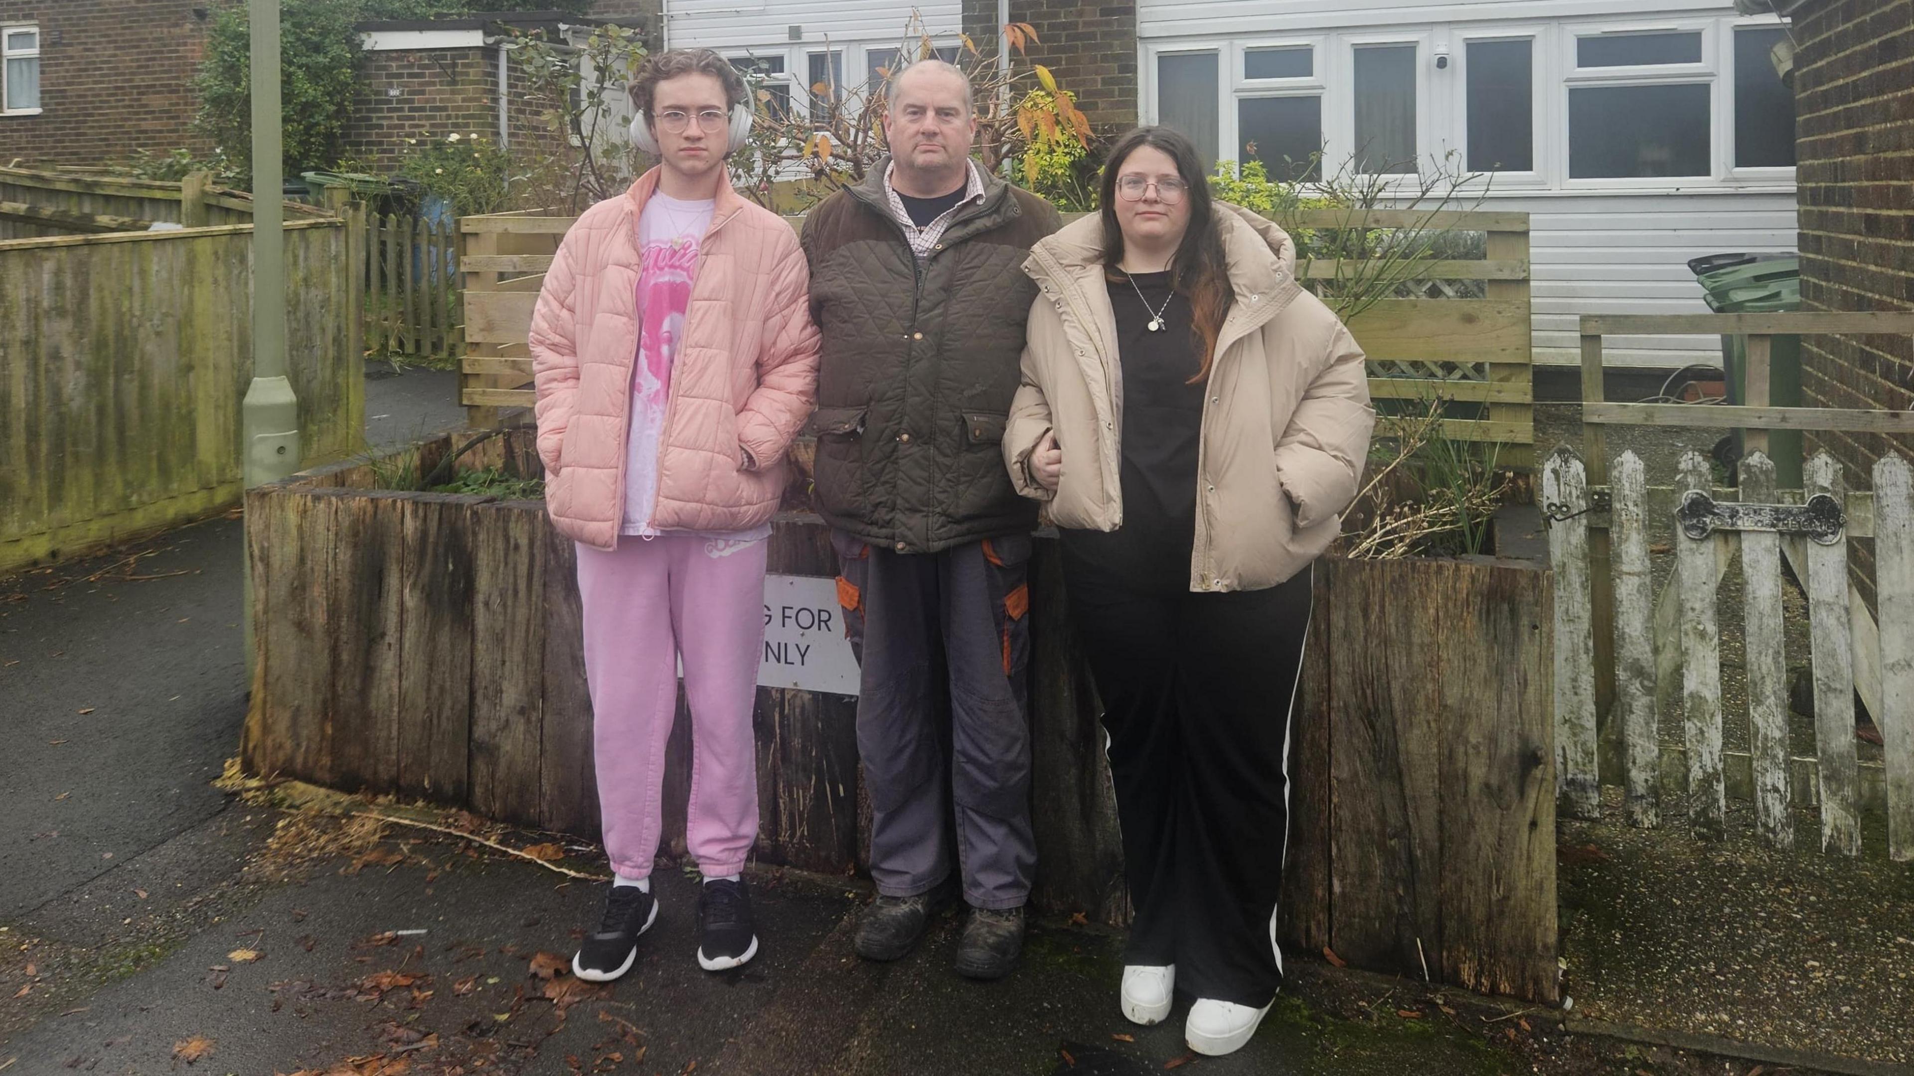
<path id="1" fill-rule="evenodd" d="M 532 304 L 570 216 L 532 213 L 467 216 L 465 360 L 459 402 L 471 425 L 496 425 L 505 408 L 532 406 L 530 350 L 524 345 Z M 804 218 L 790 218 L 802 228 Z M 1481 258 L 1399 262 L 1384 270 L 1397 297 L 1382 299 L 1349 320 L 1369 354 L 1370 396 L 1388 412 L 1395 402 L 1443 400 L 1474 408 L 1472 417 L 1445 419 L 1458 440 L 1497 442 L 1504 467 L 1535 460 L 1533 354 L 1529 324 L 1529 218 L 1525 213 L 1305 211 L 1286 220 L 1298 228 L 1455 228 L 1483 232 Z M 1307 260 L 1298 274 L 1313 285 L 1361 276 L 1351 262 Z M 1474 289 L 1455 287 L 1480 281 Z M 1430 295 L 1443 295 L 1439 299 Z"/>

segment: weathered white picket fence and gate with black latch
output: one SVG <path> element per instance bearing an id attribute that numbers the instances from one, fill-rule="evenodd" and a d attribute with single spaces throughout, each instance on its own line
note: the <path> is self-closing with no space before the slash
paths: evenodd
<path id="1" fill-rule="evenodd" d="M 1847 492 L 1841 465 L 1826 452 L 1809 461 L 1799 492 L 1776 490 L 1774 463 L 1759 452 L 1742 460 L 1738 490 L 1715 490 L 1707 458 L 1694 452 L 1671 488 L 1650 490 L 1644 471 L 1625 452 L 1604 490 L 1591 488 L 1583 461 L 1566 448 L 1543 467 L 1556 571 L 1562 810 L 1600 818 L 1608 777 L 1623 789 L 1627 821 L 1654 827 L 1663 789 L 1684 783 L 1698 837 L 1726 835 L 1732 795 L 1753 802 L 1755 835 L 1774 848 L 1793 846 L 1793 804 L 1816 808 L 1822 850 L 1845 856 L 1860 852 L 1862 810 L 1885 812 L 1889 856 L 1914 862 L 1914 469 L 1901 456 L 1883 458 L 1870 494 Z M 1650 578 L 1650 513 L 1677 521 L 1677 567 L 1659 599 Z M 1878 628 L 1849 584 L 1849 538 L 1874 540 Z M 1746 752 L 1723 751 L 1715 601 L 1736 553 Z M 1788 743 L 1784 559 L 1807 592 L 1816 745 L 1809 758 L 1793 756 Z M 1610 622 L 1619 773 L 1600 772 L 1596 739 L 1594 638 Z M 1857 685 L 1885 741 L 1881 764 L 1857 762 Z M 1680 747 L 1663 747 L 1661 722 L 1680 722 Z"/>

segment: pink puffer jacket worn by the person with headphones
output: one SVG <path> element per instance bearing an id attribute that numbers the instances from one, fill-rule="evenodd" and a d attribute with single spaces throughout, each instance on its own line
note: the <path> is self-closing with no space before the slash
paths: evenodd
<path id="1" fill-rule="evenodd" d="M 572 224 L 532 312 L 545 509 L 618 544 L 639 322 L 635 228 L 658 170 Z M 817 396 L 810 268 L 790 224 L 729 186 L 699 255 L 658 444 L 658 530 L 746 530 L 785 492 L 785 450 Z M 746 469 L 745 454 L 750 454 Z"/>

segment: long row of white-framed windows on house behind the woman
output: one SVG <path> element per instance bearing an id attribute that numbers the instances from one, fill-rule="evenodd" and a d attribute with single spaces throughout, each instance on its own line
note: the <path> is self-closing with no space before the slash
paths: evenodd
<path id="1" fill-rule="evenodd" d="M 1793 98 L 1774 17 L 1432 23 L 1141 42 L 1143 115 L 1208 161 L 1271 176 L 1447 167 L 1495 190 L 1694 190 L 1793 182 Z M 1315 149 L 1311 149 L 1315 147 Z"/>

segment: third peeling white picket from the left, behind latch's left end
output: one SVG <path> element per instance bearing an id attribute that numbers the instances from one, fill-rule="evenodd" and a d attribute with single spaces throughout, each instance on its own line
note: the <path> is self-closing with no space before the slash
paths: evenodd
<path id="1" fill-rule="evenodd" d="M 1713 496 L 1707 458 L 1680 458 L 1680 490 Z M 1680 580 L 1682 741 L 1688 747 L 1688 825 L 1696 837 L 1726 837 L 1728 791 L 1721 775 L 1721 622 L 1717 620 L 1715 534 L 1675 536 Z"/>

